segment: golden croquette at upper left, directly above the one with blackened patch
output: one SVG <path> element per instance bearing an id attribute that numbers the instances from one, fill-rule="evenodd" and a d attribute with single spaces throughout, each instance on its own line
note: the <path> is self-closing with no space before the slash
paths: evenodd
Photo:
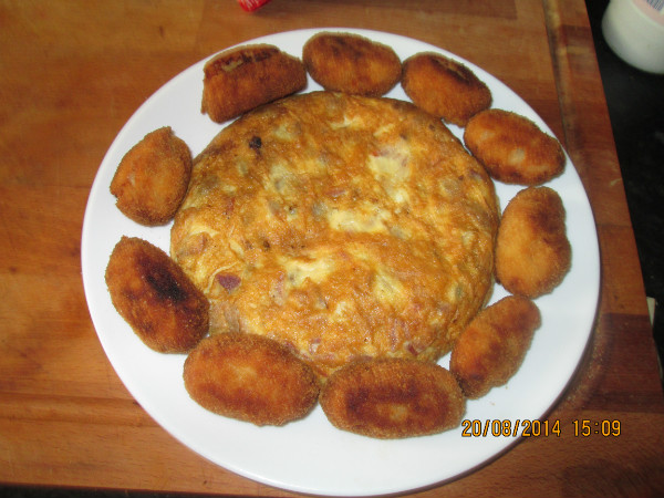
<path id="1" fill-rule="evenodd" d="M 155 129 L 132 147 L 111 181 L 117 208 L 134 221 L 164 225 L 175 216 L 191 176 L 191 153 L 169 126 Z"/>

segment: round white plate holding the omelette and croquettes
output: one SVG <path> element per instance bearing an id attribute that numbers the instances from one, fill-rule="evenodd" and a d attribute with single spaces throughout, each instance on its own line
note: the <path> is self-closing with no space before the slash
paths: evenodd
<path id="1" fill-rule="evenodd" d="M 320 30 L 301 30 L 250 42 L 272 43 L 301 56 L 302 44 Z M 464 62 L 491 89 L 494 107 L 515 111 L 549 127 L 518 95 L 480 68 L 442 49 L 408 38 L 353 31 L 394 48 L 405 59 L 437 51 Z M 256 427 L 214 415 L 194 403 L 181 381 L 184 355 L 147 349 L 111 303 L 104 271 L 123 235 L 137 236 L 168 250 L 170 227 L 145 228 L 115 207 L 108 186 L 122 156 L 145 134 L 169 125 L 196 155 L 221 125 L 200 113 L 203 65 L 187 69 L 149 97 L 122 128 L 98 169 L 83 224 L 82 267 L 85 295 L 100 341 L 118 376 L 145 411 L 183 444 L 241 476 L 292 491 L 336 496 L 403 492 L 467 473 L 496 457 L 519 437 L 464 437 L 463 427 L 435 436 L 376 440 L 335 429 L 317 407 L 307 418 L 284 427 Z M 309 81 L 307 91 L 319 89 Z M 397 85 L 388 96 L 407 100 Z M 461 129 L 450 126 L 459 136 Z M 469 421 L 538 421 L 563 393 L 583 354 L 594 321 L 600 258 L 591 207 L 569 157 L 564 174 L 549 184 L 568 212 L 572 268 L 562 284 L 537 300 L 542 326 L 515 377 L 487 396 L 467 403 Z M 520 188 L 497 185 L 505 207 Z M 505 295 L 497 287 L 494 301 Z M 440 364 L 447 366 L 449 357 Z M 522 428 L 522 427 L 521 427 Z M 572 430 L 560 426 L 561 432 Z M 518 434 L 521 429 L 518 430 Z"/>

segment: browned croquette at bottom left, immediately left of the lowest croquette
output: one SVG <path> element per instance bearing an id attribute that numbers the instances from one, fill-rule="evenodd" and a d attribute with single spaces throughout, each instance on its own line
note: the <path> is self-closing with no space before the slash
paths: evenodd
<path id="1" fill-rule="evenodd" d="M 307 415 L 319 386 L 313 371 L 271 339 L 221 333 L 189 353 L 185 387 L 204 408 L 256 425 L 283 425 Z"/>

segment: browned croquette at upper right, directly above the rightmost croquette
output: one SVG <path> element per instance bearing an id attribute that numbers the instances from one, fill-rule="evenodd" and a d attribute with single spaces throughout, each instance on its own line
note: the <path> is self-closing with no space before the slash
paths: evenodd
<path id="1" fill-rule="evenodd" d="M 512 112 L 492 108 L 473 116 L 464 142 L 489 175 L 506 184 L 541 185 L 564 169 L 560 143 Z"/>

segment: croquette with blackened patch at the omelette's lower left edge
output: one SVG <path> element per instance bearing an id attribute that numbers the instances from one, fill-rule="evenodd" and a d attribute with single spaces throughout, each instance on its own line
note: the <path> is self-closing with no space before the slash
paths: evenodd
<path id="1" fill-rule="evenodd" d="M 106 284 L 117 312 L 155 351 L 187 352 L 208 331 L 205 295 L 166 252 L 143 239 L 117 242 Z"/>

